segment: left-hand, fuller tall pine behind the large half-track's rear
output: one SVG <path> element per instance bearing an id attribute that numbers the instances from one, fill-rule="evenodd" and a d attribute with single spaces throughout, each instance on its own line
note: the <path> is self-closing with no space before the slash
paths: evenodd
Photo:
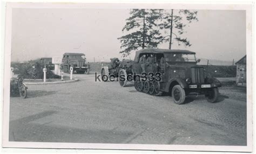
<path id="1" fill-rule="evenodd" d="M 122 30 L 130 33 L 118 38 L 122 44 L 120 53 L 123 57 L 140 48 L 157 47 L 163 40 L 157 23 L 161 15 L 160 10 L 132 9 L 130 15 Z"/>

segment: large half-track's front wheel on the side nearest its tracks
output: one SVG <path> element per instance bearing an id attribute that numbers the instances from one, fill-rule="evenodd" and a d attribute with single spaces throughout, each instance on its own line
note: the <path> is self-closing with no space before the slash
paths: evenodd
<path id="1" fill-rule="evenodd" d="M 172 88 L 172 100 L 176 104 L 183 104 L 186 98 L 185 90 L 180 85 Z"/>

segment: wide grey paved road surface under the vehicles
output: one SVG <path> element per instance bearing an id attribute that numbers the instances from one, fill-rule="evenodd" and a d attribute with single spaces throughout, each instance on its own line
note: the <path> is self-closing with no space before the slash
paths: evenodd
<path id="1" fill-rule="evenodd" d="M 29 85 L 28 99 L 11 97 L 10 141 L 246 145 L 244 88 L 221 88 L 217 103 L 190 95 L 177 105 L 168 95 L 75 76 L 80 81 Z"/>

